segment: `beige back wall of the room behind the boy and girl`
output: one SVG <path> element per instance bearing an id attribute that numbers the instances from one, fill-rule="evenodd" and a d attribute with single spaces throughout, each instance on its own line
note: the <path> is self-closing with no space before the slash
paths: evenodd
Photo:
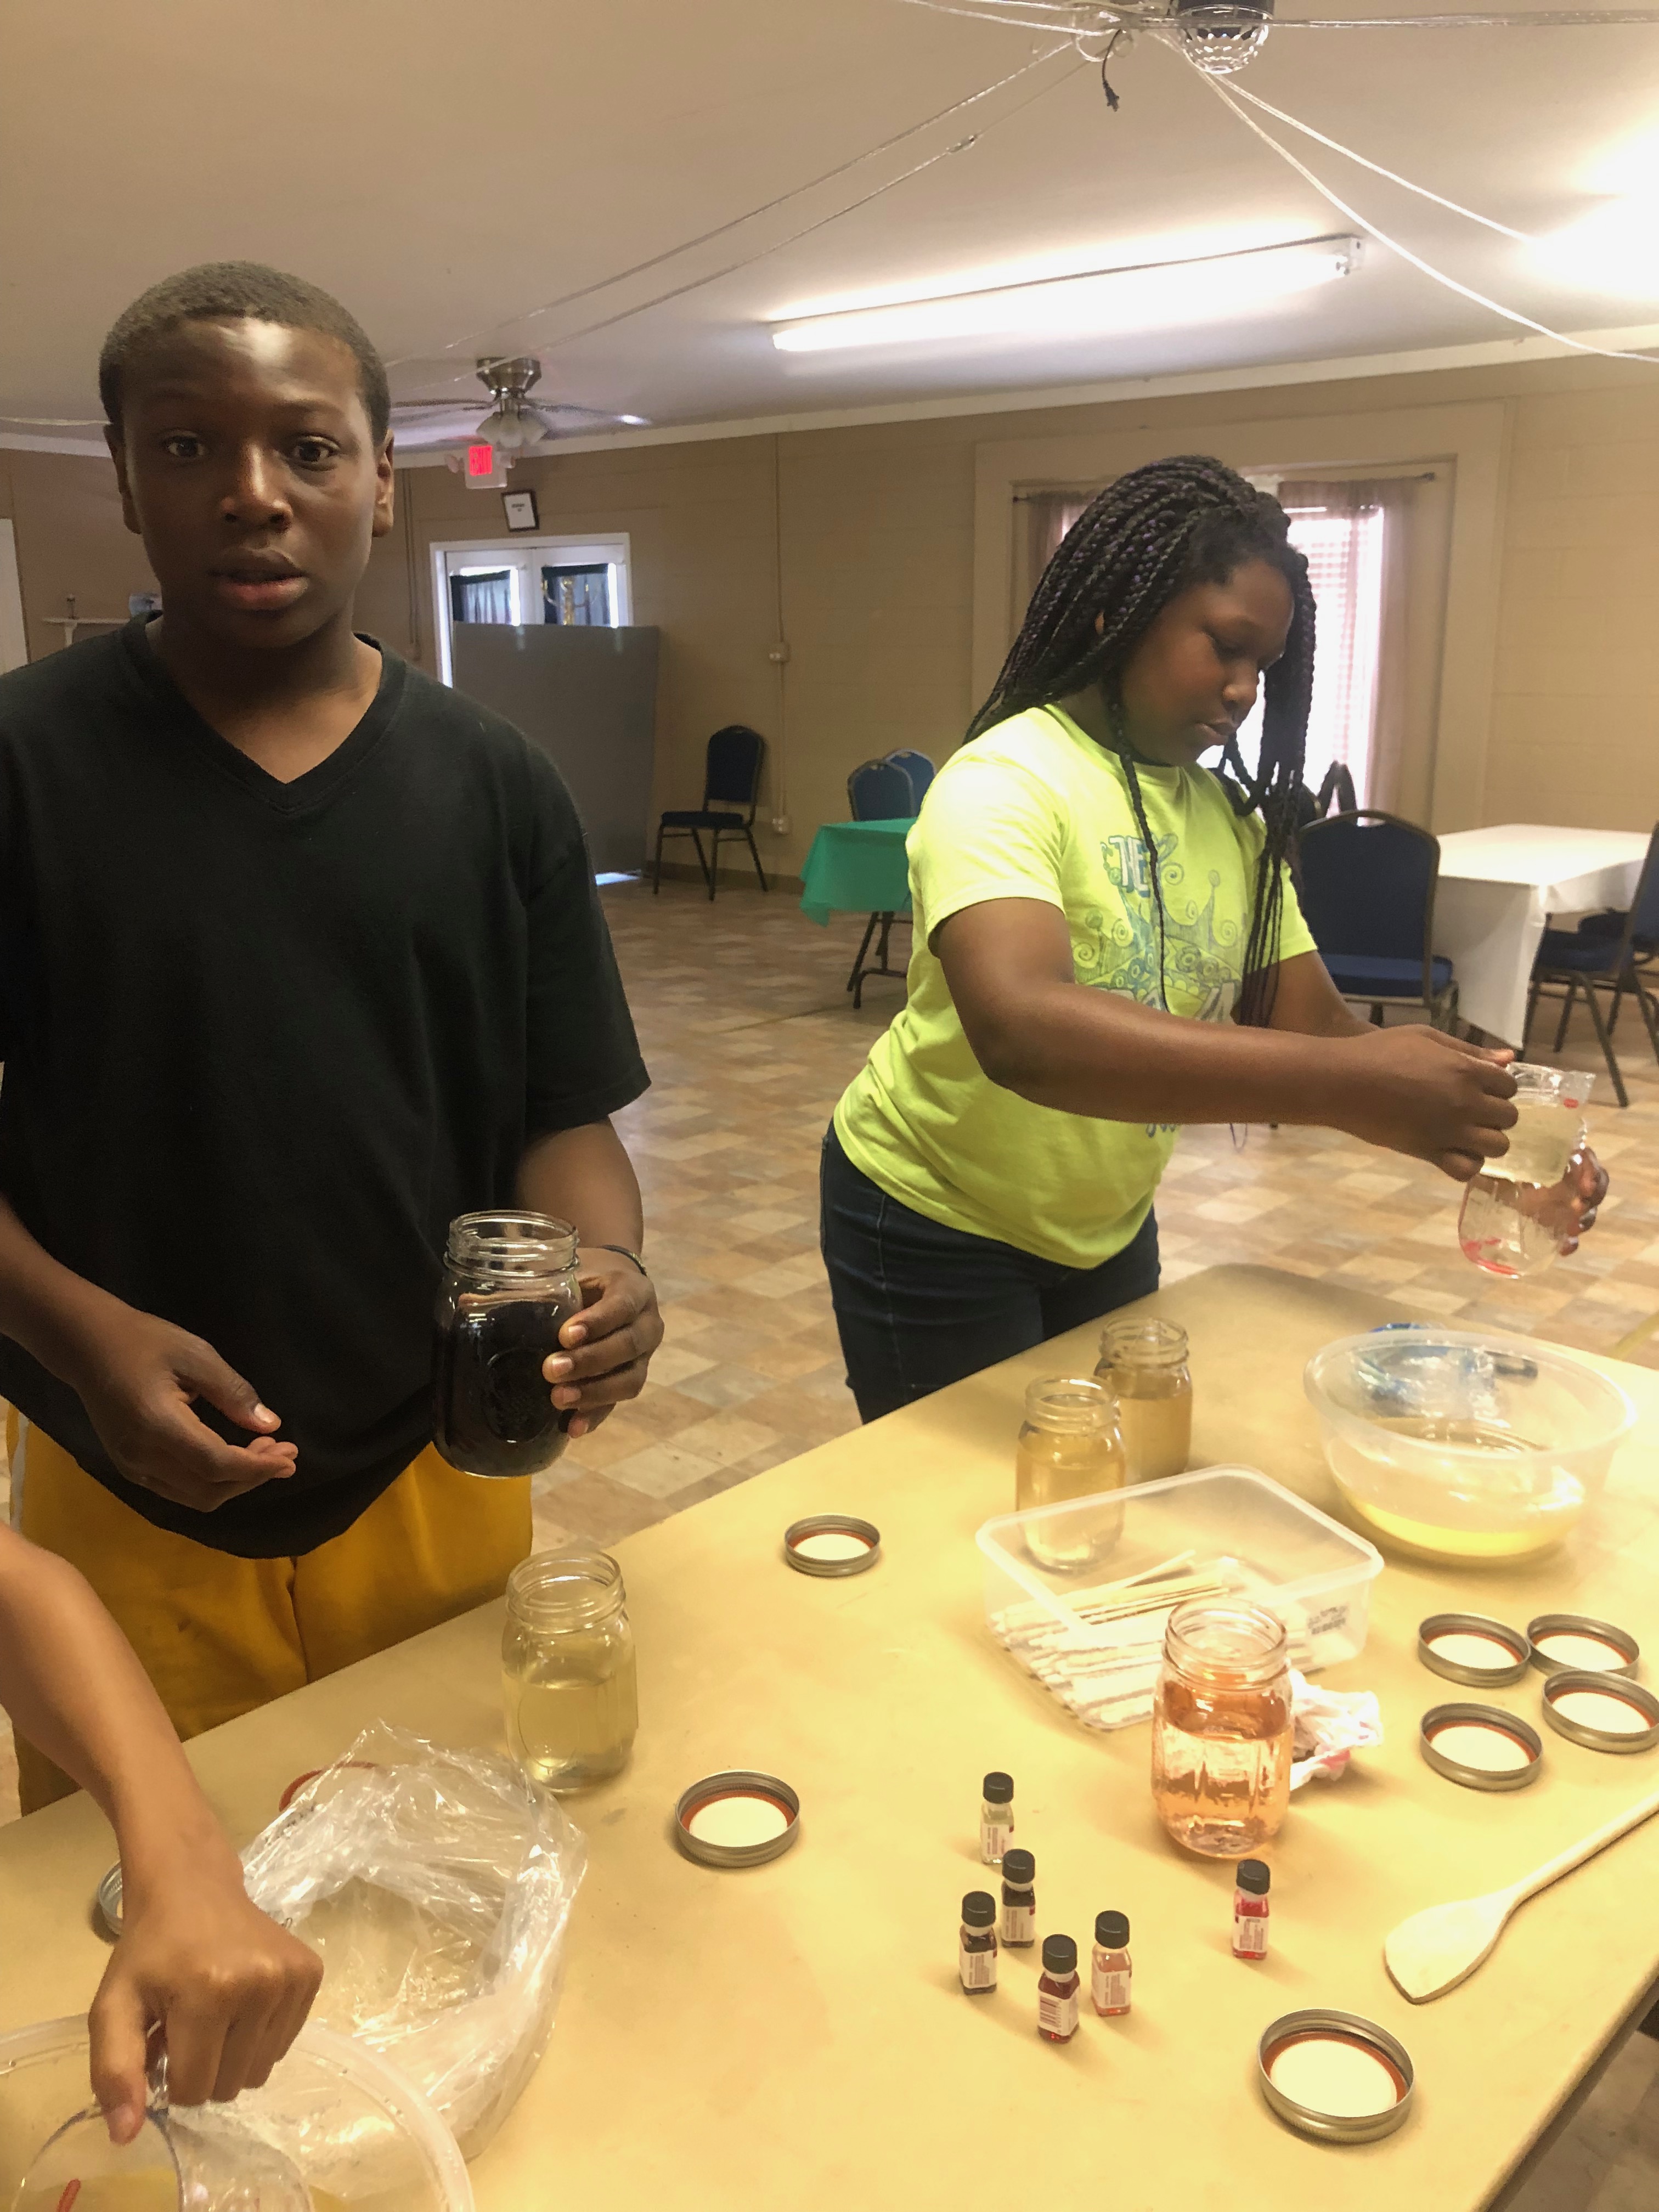
<path id="1" fill-rule="evenodd" d="M 657 805 L 695 801 L 708 732 L 750 721 L 772 748 L 763 816 L 792 821 L 763 849 L 799 872 L 812 827 L 845 816 L 849 768 L 900 743 L 942 759 L 971 714 L 975 653 L 980 670 L 995 659 L 995 639 L 975 648 L 975 566 L 984 577 L 987 538 L 1006 546 L 1013 524 L 1000 500 L 987 504 L 987 456 L 1093 438 L 1234 449 L 1248 434 L 1263 462 L 1433 460 L 1460 409 L 1484 409 L 1493 431 L 1478 491 L 1462 462 L 1453 491 L 1453 531 L 1471 535 L 1431 732 L 1436 823 L 1646 830 L 1659 818 L 1659 692 L 1644 650 L 1659 595 L 1652 369 L 1537 363 L 555 453 L 520 465 L 513 484 L 538 491 L 546 533 L 630 535 L 635 619 L 657 624 L 664 646 Z M 1285 447 L 1294 429 L 1294 453 L 1267 451 L 1263 425 L 1283 425 Z M 40 615 L 62 611 L 64 591 L 111 613 L 148 577 L 102 462 L 0 465 L 38 653 L 51 644 Z M 434 668 L 429 546 L 500 535 L 500 498 L 447 469 L 400 471 L 398 498 L 358 615 Z M 779 606 L 781 684 L 768 657 Z"/>

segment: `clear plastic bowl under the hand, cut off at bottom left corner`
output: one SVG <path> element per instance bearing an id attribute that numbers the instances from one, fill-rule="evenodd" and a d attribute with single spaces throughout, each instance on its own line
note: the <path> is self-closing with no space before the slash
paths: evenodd
<path id="1" fill-rule="evenodd" d="M 0 2208 L 9 2212 L 40 2148 L 86 2104 L 84 2017 L 0 2035 Z M 265 2088 L 204 2115 L 210 2128 L 215 2115 L 234 2117 L 290 2159 L 316 2212 L 473 2212 L 467 2166 L 427 2099 L 374 2051 L 327 2028 L 307 2026 Z M 192 2115 L 177 2119 L 188 2128 Z M 170 2212 L 181 2201 L 177 2183 L 161 2188 L 170 2161 L 148 2163 L 153 2174 L 106 2177 L 111 2205 Z M 97 2212 L 95 2197 L 88 2181 L 84 2212 Z"/>

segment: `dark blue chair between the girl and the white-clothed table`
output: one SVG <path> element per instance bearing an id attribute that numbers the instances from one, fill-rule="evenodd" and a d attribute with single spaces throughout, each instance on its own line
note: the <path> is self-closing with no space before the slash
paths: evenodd
<path id="1" fill-rule="evenodd" d="M 1418 1006 L 1436 1026 L 1458 1013 L 1451 960 L 1433 945 L 1440 838 L 1376 807 L 1327 814 L 1301 836 L 1301 905 L 1318 956 L 1343 998 Z"/>

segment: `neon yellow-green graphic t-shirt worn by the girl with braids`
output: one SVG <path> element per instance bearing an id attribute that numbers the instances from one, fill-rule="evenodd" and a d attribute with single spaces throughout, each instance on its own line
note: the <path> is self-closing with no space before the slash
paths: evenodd
<path id="1" fill-rule="evenodd" d="M 1239 998 L 1263 825 L 1239 818 L 1203 768 L 1137 774 L 1159 856 L 1166 1006 L 1221 1022 Z M 1157 920 L 1124 763 L 1060 708 L 1015 714 L 951 754 L 907 849 L 907 1000 L 836 1106 L 843 1150 L 929 1221 L 1099 1267 L 1146 1221 L 1175 1126 L 1097 1121 L 993 1084 L 927 940 L 964 907 L 1040 898 L 1066 916 L 1077 982 L 1157 1006 Z M 1312 949 L 1285 883 L 1279 958 Z"/>

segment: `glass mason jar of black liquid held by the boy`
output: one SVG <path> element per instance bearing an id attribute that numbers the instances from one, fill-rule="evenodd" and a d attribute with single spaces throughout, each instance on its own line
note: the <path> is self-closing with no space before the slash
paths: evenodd
<path id="1" fill-rule="evenodd" d="M 582 1310 L 575 1230 L 551 1214 L 449 1223 L 438 1290 L 434 1442 L 467 1475 L 535 1475 L 564 1451 L 568 1413 L 542 1374 Z"/>

